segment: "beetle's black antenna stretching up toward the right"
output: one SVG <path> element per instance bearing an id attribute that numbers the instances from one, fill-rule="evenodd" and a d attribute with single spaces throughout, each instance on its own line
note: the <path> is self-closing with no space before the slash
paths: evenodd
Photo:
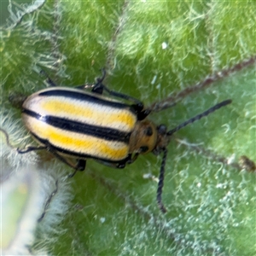
<path id="1" fill-rule="evenodd" d="M 189 125 L 194 123 L 195 121 L 207 116 L 209 113 L 212 113 L 216 110 L 218 110 L 218 108 L 222 108 L 228 104 L 230 104 L 232 102 L 232 100 L 226 100 L 224 102 L 219 102 L 218 104 L 216 104 L 215 106 L 213 106 L 212 108 L 207 109 L 207 111 L 200 113 L 198 115 L 196 115 L 195 117 L 183 122 L 183 124 L 177 125 L 177 127 L 173 128 L 172 130 L 168 131 L 166 133 L 167 136 L 172 136 L 172 134 L 180 129 L 182 129 L 184 126 Z"/>

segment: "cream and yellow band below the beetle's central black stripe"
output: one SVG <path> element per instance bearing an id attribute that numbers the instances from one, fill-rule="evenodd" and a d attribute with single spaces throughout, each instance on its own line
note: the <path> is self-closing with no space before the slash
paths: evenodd
<path id="1" fill-rule="evenodd" d="M 90 154 L 93 157 L 107 160 L 123 160 L 129 147 L 125 143 L 106 141 L 72 131 L 65 131 L 48 125 L 38 119 L 26 116 L 26 125 L 36 136 L 46 139 L 55 147 L 73 153 Z"/>

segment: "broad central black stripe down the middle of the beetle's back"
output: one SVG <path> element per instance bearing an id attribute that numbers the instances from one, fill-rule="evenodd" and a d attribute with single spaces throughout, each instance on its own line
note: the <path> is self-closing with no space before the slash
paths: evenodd
<path id="1" fill-rule="evenodd" d="M 77 121 L 63 119 L 55 116 L 42 116 L 39 113 L 35 113 L 31 110 L 24 108 L 22 113 L 38 119 L 48 125 L 60 128 L 64 131 L 73 131 L 81 134 L 90 135 L 93 137 L 102 138 L 107 141 L 117 141 L 122 143 L 129 143 L 131 133 L 123 132 L 112 128 L 106 128 L 96 125 L 88 125 Z"/>

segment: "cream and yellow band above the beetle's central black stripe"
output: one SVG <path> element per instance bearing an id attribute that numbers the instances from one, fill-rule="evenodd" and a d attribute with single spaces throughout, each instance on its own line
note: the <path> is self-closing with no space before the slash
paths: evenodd
<path id="1" fill-rule="evenodd" d="M 38 106 L 38 112 L 84 121 L 91 125 L 105 126 L 108 128 L 131 131 L 137 121 L 134 113 L 128 109 L 97 106 L 96 103 L 70 101 L 65 97 L 45 98 Z"/>

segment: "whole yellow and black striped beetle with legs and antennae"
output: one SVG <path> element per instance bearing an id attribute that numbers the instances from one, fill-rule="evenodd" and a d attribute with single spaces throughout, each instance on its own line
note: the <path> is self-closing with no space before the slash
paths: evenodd
<path id="1" fill-rule="evenodd" d="M 49 88 L 19 98 L 22 119 L 40 146 L 17 150 L 20 154 L 25 154 L 32 150 L 47 149 L 59 160 L 73 167 L 75 172 L 84 170 L 87 159 L 98 160 L 115 168 L 124 168 L 126 164 L 136 160 L 139 154 L 163 153 L 157 202 L 161 212 L 166 212 L 161 194 L 164 185 L 166 147 L 172 134 L 230 104 L 231 100 L 220 102 L 167 131 L 166 125 L 154 125 L 146 119 L 150 110 L 144 108 L 143 102 L 108 90 L 108 87 L 102 84 L 104 77 L 105 72 L 101 79 L 96 80 L 96 84 L 76 88 L 56 86 L 48 78 Z M 91 87 L 92 90 L 84 90 L 87 87 Z M 104 90 L 110 97 L 102 96 Z M 10 101 L 15 102 L 15 97 L 10 96 Z M 70 159 L 77 160 L 77 164 L 74 165 Z"/>

